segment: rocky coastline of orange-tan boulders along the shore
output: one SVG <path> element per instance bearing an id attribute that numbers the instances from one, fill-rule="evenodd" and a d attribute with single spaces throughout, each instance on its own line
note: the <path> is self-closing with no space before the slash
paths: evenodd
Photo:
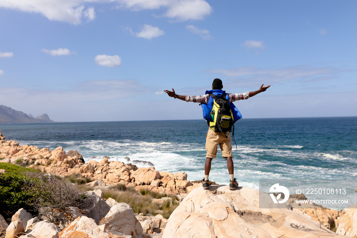
<path id="1" fill-rule="evenodd" d="M 20 237 L 357 236 L 357 213 L 352 208 L 337 211 L 316 204 L 300 205 L 294 203 L 295 197 L 291 196 L 290 207 L 260 209 L 259 191 L 252 188 L 230 191 L 226 186 L 213 185 L 205 191 L 200 183 L 189 181 L 184 172 L 161 172 L 152 166 L 138 168 L 132 163 L 109 161 L 108 157 L 99 162 L 85 162 L 79 152 L 66 153 L 62 147 L 50 151 L 31 145 L 21 146 L 13 140 L 6 141 L 1 131 L 0 162 L 15 163 L 56 176 L 87 178 L 90 180 L 87 186 L 93 188 L 86 192 L 90 198 L 87 206 L 59 211 L 66 218 L 61 225 L 33 218 L 24 209 L 18 210 L 11 222 L 0 216 L 0 228 L 6 229 L 5 237 L 17 237 L 19 234 L 22 234 Z M 117 185 L 134 187 L 136 191 L 147 189 L 173 194 L 179 198 L 180 205 L 168 220 L 162 215 L 135 214 L 126 203 L 104 199 L 104 189 Z M 44 227 L 48 231 L 46 236 Z M 234 230 L 232 227 L 235 227 Z"/>

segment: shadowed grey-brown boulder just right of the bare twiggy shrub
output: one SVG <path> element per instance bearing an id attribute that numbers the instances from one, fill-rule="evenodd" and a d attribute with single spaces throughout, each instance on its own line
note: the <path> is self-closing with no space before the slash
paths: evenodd
<path id="1" fill-rule="evenodd" d="M 100 198 L 93 191 L 85 193 L 87 196 L 86 201 L 79 206 L 83 210 L 84 215 L 94 219 L 98 224 L 102 218 L 104 218 L 110 210 L 110 206 Z"/>

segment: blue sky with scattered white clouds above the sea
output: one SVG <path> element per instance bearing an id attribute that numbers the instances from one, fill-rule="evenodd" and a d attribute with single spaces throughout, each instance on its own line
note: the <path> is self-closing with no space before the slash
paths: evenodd
<path id="1" fill-rule="evenodd" d="M 28 3 L 27 3 L 28 2 Z M 202 118 L 214 78 L 243 118 L 357 116 L 357 2 L 0 0 L 0 105 L 57 122 Z"/>

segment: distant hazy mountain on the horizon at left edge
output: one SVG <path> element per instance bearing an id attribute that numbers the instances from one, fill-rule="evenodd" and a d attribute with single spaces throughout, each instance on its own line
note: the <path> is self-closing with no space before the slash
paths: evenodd
<path id="1" fill-rule="evenodd" d="M 0 105 L 0 124 L 12 124 L 12 123 L 52 123 L 47 114 L 43 114 L 37 117 L 28 115 L 22 111 L 16 111 L 11 107 Z"/>

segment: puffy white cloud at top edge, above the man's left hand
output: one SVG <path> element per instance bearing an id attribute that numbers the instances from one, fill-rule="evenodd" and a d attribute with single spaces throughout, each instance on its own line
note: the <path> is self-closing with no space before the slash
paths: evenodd
<path id="1" fill-rule="evenodd" d="M 212 7 L 203 0 L 174 1 L 165 16 L 179 20 L 200 20 L 211 14 Z"/>

